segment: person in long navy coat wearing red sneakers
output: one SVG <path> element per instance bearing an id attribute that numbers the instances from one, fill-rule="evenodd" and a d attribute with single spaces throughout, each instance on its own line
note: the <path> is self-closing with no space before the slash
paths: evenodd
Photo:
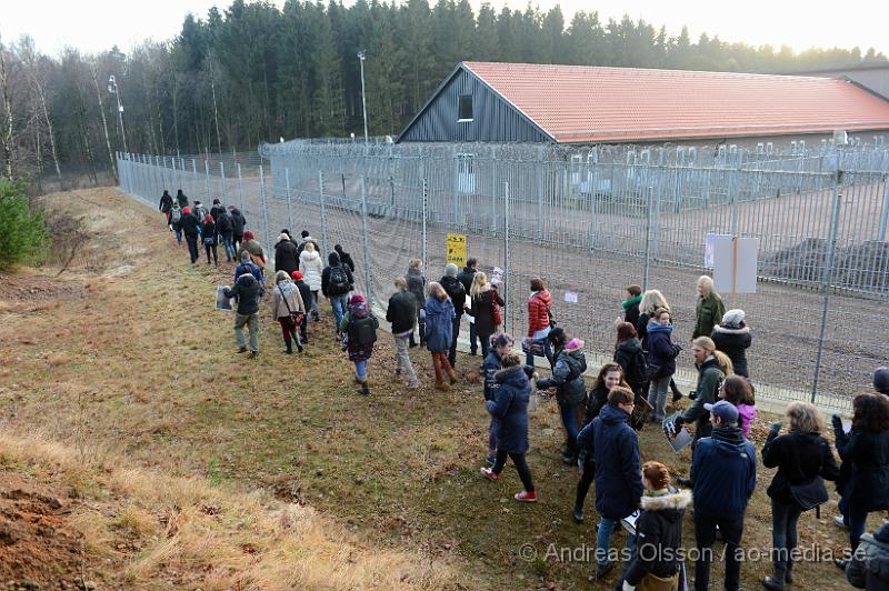
<path id="1" fill-rule="evenodd" d="M 495 399 L 485 403 L 491 417 L 498 420 L 497 455 L 493 465 L 482 468 L 481 473 L 488 480 L 497 482 L 507 458 L 511 459 L 523 487 L 512 498 L 522 503 L 533 503 L 537 502 L 537 490 L 525 458 L 528 452 L 528 401 L 531 382 L 517 353 L 506 353 L 501 362 L 503 369 L 495 375 L 498 383 Z"/>

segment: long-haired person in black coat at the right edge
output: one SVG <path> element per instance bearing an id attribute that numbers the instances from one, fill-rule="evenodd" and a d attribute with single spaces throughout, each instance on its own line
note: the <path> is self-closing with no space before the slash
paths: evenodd
<path id="1" fill-rule="evenodd" d="M 849 528 L 852 552 L 858 548 L 868 513 L 889 509 L 889 399 L 863 393 L 852 399 L 852 428 L 847 433 L 832 417 L 833 440 L 842 465 L 837 480 L 842 524 Z M 837 565 L 845 568 L 843 561 Z"/>

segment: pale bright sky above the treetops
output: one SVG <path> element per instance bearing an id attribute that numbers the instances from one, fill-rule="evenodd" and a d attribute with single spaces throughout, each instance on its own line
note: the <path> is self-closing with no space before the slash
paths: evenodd
<path id="1" fill-rule="evenodd" d="M 346 0 L 351 4 L 353 0 Z M 432 3 L 434 0 L 430 0 Z M 470 0 L 478 9 L 481 0 Z M 147 38 L 166 40 L 174 37 L 187 12 L 204 17 L 213 4 L 227 7 L 229 0 L 0 0 L 0 36 L 3 41 L 28 33 L 42 51 L 57 53 L 64 46 L 84 52 L 101 51 L 117 44 L 128 50 Z M 283 0 L 276 0 L 279 6 Z M 491 4 L 499 11 L 503 4 L 525 9 L 527 0 L 498 0 Z M 541 11 L 557 2 L 536 2 Z M 678 33 L 688 24 L 692 38 L 701 32 L 727 41 L 753 46 L 782 43 L 796 50 L 817 47 L 859 46 L 889 54 L 889 1 L 845 0 L 819 3 L 811 0 L 562 0 L 558 2 L 566 21 L 577 10 L 598 10 L 602 20 L 619 18 L 625 12 Z"/>

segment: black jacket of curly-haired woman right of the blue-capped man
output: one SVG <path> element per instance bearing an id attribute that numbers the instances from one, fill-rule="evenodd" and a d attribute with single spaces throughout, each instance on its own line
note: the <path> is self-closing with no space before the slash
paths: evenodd
<path id="1" fill-rule="evenodd" d="M 802 484 L 815 477 L 837 480 L 840 475 L 830 443 L 818 432 L 790 431 L 782 435 L 769 432 L 762 448 L 762 465 L 778 469 L 766 494 L 781 503 L 795 502 L 791 484 Z"/>

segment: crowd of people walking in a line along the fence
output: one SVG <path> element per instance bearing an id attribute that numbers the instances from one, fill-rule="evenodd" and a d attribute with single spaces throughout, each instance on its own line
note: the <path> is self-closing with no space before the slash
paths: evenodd
<path id="1" fill-rule="evenodd" d="M 214 199 L 207 211 L 199 201 L 189 204 L 181 191 L 176 199 L 164 191 L 159 209 L 177 241 L 184 237 L 192 264 L 200 258 L 199 240 L 208 264 L 218 264 L 217 244 L 224 246 L 227 260 L 238 261 L 233 287 L 226 288 L 224 296 L 237 301 L 239 353 L 259 352 L 259 308 L 267 291 L 287 354 L 293 347 L 302 352 L 308 344 L 308 320 L 320 319 L 323 297 L 342 350 L 354 364 L 359 391 L 370 394 L 369 362 L 379 320 L 364 294 L 354 290 L 354 263 L 341 246 L 323 264 L 318 242 L 308 231 L 294 240 L 281 230 L 274 244 L 273 284 L 267 286 L 264 250 L 244 230 L 247 221 L 237 208 L 224 208 Z M 477 355 L 480 347 L 483 401 L 490 414 L 480 472 L 497 482 L 511 460 L 522 484 L 515 494 L 519 502 L 539 498 L 527 459 L 532 392 L 553 392 L 565 434 L 562 461 L 580 470 L 576 523 L 583 523 L 586 497 L 595 485 L 597 578 L 621 564 L 619 590 L 705 591 L 710 587 L 712 547 L 721 539 L 725 589 L 740 589 L 745 517 L 761 455 L 762 465 L 777 469 L 766 491 L 771 501 L 773 568 L 762 585 L 780 591 L 792 584 L 799 568 L 798 521 L 829 501 L 825 481 L 833 481 L 840 511 L 836 524 L 848 530 L 851 550 L 836 565 L 855 587 L 889 588 L 889 523 L 866 533 L 868 514 L 889 510 L 889 369 L 875 371 L 873 392 L 855 397 L 850 423 L 832 415 L 833 445 L 825 438 L 821 412 L 811 403 L 793 402 L 785 421 L 771 424 L 758 454 L 750 441 L 757 414 L 755 368 L 747 359 L 752 332 L 745 311 L 727 310 L 707 276 L 697 282 L 691 341 L 682 343 L 690 348 L 685 354 L 691 355 L 698 372 L 688 404 L 679 404 L 685 395 L 673 380 L 683 345 L 676 342 L 673 313 L 658 290 L 626 288 L 622 318 L 615 324 L 613 361 L 600 368 L 588 391 L 585 342 L 557 323 L 543 279 L 529 282 L 528 330 L 520 340 L 525 359 L 502 330 L 506 302 L 477 259 L 468 259 L 463 269 L 446 266 L 438 281 L 428 281 L 422 261 L 413 259 L 393 287 L 386 320 L 394 340 L 396 378 L 407 380 L 409 390 L 421 383 L 410 355 L 418 344 L 431 357 L 436 389 L 448 391 L 461 379 L 456 371 L 457 340 L 462 318 L 469 319 L 470 354 Z M 539 368 L 549 371 L 541 375 Z M 667 437 L 692 431 L 688 477 L 673 479 L 667 465 L 641 462 L 637 433 L 646 423 L 656 423 Z M 693 523 L 693 581 L 686 573 L 682 551 L 687 511 Z M 632 518 L 625 550 L 617 552 L 613 533 Z"/>

